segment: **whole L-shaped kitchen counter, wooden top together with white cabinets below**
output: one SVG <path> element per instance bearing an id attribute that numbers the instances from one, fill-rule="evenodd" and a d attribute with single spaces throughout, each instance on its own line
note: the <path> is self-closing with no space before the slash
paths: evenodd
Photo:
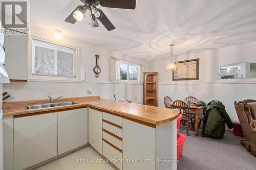
<path id="1" fill-rule="evenodd" d="M 5 169 L 32 169 L 88 144 L 107 159 L 124 160 L 113 162 L 121 170 L 177 169 L 178 110 L 100 96 L 56 102 L 77 104 L 25 110 L 49 100 L 3 103 Z"/>

